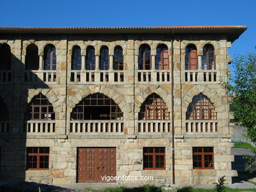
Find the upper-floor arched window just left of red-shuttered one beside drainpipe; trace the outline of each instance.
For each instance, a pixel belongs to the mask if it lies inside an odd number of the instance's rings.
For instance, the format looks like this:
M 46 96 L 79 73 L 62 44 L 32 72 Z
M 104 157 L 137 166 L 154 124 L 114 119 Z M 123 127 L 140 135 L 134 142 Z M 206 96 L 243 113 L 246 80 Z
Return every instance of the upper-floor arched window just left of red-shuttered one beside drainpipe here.
M 151 51 L 149 45 L 141 45 L 138 58 L 139 69 L 151 69 Z

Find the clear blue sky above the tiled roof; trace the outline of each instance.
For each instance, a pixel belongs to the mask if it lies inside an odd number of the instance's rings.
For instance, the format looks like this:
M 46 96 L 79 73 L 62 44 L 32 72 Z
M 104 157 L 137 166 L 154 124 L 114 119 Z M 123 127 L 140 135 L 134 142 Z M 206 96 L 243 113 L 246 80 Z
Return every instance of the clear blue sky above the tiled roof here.
M 0 7 L 0 26 L 245 25 L 229 54 L 256 46 L 256 0 L 1 0 Z

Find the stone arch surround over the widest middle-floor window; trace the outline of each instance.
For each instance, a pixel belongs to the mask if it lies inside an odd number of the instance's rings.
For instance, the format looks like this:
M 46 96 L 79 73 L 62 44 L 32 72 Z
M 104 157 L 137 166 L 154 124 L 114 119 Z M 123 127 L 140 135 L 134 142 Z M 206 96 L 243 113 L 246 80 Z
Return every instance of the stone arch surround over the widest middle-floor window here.
M 108 96 L 108 98 L 114 100 L 114 102 L 120 107 L 122 112 L 127 111 L 127 105 L 125 99 L 123 98 L 123 95 L 117 92 L 117 90 L 114 90 L 114 88 L 110 89 L 104 85 L 90 85 L 85 89 L 79 89 L 77 91 L 77 94 L 72 96 L 67 101 L 68 111 L 71 112 L 75 105 L 81 102 L 83 98 L 89 96 L 89 94 L 95 94 L 97 92 L 104 94 L 105 96 Z

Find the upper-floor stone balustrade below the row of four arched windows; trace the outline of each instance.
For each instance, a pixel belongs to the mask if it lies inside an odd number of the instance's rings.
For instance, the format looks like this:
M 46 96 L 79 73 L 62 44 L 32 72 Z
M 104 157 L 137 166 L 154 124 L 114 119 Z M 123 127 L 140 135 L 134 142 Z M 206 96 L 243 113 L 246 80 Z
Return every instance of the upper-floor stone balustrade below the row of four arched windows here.
M 123 71 L 77 71 L 72 70 L 70 74 L 70 82 L 104 82 L 104 83 L 121 83 L 124 81 Z

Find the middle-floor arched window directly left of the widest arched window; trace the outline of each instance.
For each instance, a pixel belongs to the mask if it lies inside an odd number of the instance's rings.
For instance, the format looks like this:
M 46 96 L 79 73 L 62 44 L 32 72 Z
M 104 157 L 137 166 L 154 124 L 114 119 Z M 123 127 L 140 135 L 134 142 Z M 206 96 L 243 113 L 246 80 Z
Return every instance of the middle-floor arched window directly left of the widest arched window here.
M 49 102 L 49 100 L 41 93 L 34 96 L 31 102 L 28 104 L 25 120 L 53 119 L 55 119 L 55 113 L 53 111 L 53 105 Z

